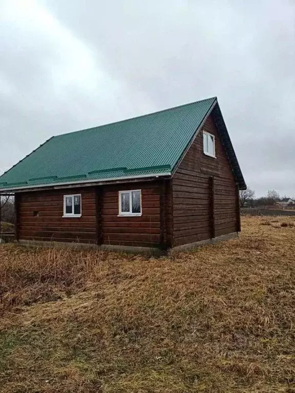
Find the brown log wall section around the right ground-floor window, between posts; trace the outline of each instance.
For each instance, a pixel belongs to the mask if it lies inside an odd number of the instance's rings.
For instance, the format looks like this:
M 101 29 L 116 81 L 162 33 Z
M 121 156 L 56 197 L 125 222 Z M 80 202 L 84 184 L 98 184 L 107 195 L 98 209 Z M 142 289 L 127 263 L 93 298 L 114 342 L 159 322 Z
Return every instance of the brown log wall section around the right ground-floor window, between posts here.
M 162 181 L 104 185 L 102 187 L 102 243 L 155 247 L 161 243 L 160 194 Z M 118 194 L 141 190 L 141 217 L 118 217 Z

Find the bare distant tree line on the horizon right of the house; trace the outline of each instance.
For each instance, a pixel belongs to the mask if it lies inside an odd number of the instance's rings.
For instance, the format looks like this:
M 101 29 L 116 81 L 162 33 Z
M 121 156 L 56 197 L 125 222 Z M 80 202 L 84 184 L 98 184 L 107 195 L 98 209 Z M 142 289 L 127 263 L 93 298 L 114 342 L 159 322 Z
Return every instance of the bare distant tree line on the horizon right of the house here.
M 245 207 L 259 207 L 259 206 L 271 206 L 275 205 L 276 202 L 281 199 L 288 198 L 287 196 L 280 196 L 276 190 L 268 190 L 267 194 L 260 198 L 255 198 L 255 191 L 251 189 L 240 191 L 240 206 Z M 295 198 L 291 198 L 295 200 Z

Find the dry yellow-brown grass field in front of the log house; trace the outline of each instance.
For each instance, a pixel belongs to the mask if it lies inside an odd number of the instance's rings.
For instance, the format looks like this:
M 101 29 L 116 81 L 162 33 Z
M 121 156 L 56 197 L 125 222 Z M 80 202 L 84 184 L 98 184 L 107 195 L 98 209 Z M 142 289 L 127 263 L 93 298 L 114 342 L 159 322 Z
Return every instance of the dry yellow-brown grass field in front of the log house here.
M 0 245 L 0 392 L 295 392 L 294 225 L 160 259 Z

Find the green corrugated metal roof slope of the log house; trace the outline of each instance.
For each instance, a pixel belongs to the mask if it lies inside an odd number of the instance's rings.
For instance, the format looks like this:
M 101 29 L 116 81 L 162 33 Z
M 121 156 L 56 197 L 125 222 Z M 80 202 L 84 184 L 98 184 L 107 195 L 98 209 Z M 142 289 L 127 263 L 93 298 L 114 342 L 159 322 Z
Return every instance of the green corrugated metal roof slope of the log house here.
M 0 177 L 0 190 L 171 173 L 216 97 L 54 136 Z

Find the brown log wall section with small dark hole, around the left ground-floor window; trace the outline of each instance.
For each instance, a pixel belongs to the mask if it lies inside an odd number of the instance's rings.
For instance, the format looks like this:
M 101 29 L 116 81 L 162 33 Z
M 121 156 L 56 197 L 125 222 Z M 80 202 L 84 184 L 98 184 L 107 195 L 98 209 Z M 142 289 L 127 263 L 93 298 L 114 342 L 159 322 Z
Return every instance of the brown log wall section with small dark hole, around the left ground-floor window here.
M 63 218 L 64 195 L 72 194 L 81 194 L 82 216 Z M 95 188 L 18 193 L 16 199 L 19 239 L 96 243 Z

